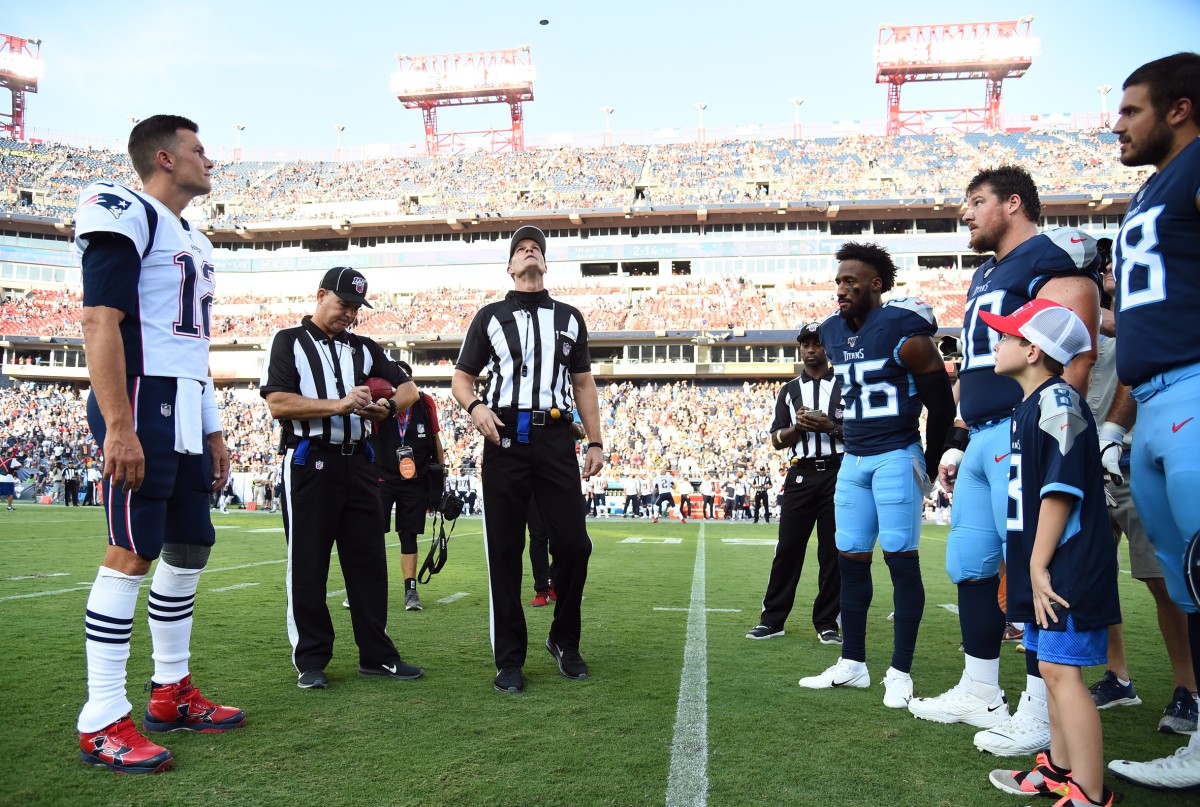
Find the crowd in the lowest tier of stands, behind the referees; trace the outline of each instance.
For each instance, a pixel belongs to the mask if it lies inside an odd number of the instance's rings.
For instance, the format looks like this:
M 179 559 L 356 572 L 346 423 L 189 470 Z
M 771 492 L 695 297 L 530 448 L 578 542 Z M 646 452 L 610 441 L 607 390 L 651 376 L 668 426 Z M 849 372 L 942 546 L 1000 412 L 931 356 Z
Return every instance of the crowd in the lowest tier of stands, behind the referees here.
M 422 387 L 438 405 L 446 466 L 475 468 L 482 453 L 479 432 L 448 388 Z M 769 448 L 774 384 L 697 385 L 689 382 L 620 382 L 599 388 L 610 480 L 630 474 L 678 472 L 726 478 L 758 466 L 778 476 L 780 455 Z M 88 391 L 67 384 L 22 383 L 0 388 L 0 455 L 17 455 L 18 474 L 36 485 L 54 465 L 82 472 L 102 467 L 101 447 L 86 422 Z M 217 390 L 221 420 L 235 474 L 269 474 L 278 464 L 278 426 L 251 387 Z M 41 489 L 38 489 L 41 492 Z M 47 491 L 48 492 L 48 491 Z

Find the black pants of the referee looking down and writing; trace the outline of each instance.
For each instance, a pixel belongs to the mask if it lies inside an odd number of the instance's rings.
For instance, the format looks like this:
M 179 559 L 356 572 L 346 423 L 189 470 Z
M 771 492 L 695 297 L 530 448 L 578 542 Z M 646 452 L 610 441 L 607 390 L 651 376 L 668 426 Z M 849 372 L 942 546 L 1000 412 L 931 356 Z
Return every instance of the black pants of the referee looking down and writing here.
M 306 672 L 325 669 L 334 657 L 326 588 L 336 543 L 359 664 L 392 664 L 400 653 L 385 629 L 388 556 L 376 467 L 362 450 L 343 456 L 313 446 L 304 465 L 295 465 L 294 454 L 289 448 L 283 455 L 292 660 Z

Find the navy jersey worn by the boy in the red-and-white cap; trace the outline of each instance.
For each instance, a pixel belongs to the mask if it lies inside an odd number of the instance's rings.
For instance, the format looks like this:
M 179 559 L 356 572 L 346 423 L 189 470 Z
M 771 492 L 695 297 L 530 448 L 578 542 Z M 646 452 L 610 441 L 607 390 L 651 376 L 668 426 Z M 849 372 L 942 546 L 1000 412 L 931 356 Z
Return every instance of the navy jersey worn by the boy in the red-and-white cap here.
M 1070 609 L 1060 611 L 1058 623 L 1049 629 L 1063 629 L 1067 612 L 1080 630 L 1118 623 L 1117 561 L 1096 420 L 1087 402 L 1062 378 L 1048 379 L 1013 412 L 1008 476 L 1008 618 L 1033 621 L 1030 557 L 1038 513 L 1043 496 L 1062 492 L 1074 503 L 1050 561 L 1050 586 Z

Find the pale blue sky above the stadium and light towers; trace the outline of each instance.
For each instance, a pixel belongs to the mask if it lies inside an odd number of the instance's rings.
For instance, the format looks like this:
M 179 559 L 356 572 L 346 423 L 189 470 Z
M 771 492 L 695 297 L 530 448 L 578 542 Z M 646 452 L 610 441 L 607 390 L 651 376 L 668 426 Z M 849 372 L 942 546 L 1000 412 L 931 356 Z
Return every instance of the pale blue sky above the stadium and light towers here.
M 907 11 L 905 11 L 907 8 Z M 52 10 L 52 11 L 48 11 Z M 347 4 L 196 2 L 14 4 L 2 32 L 43 41 L 41 89 L 29 96 L 36 134 L 68 132 L 113 142 L 128 118 L 158 112 L 200 124 L 210 150 L 233 145 L 332 149 L 422 139 L 421 115 L 389 92 L 396 54 L 532 47 L 532 141 L 601 132 L 616 108 L 618 137 L 664 127 L 694 130 L 708 103 L 712 132 L 790 126 L 790 98 L 805 121 L 882 120 L 886 88 L 874 83 L 881 23 L 960 23 L 1032 14 L 1042 55 L 1004 85 L 1004 114 L 1092 112 L 1111 84 L 1109 108 L 1138 65 L 1200 47 L 1200 2 L 1116 4 L 943 0 L 896 4 L 558 2 Z M 539 25 L 546 18 L 548 25 Z M 7 104 L 6 94 L 0 103 Z M 904 106 L 977 106 L 983 84 L 910 85 Z M 506 126 L 503 106 L 450 109 L 443 128 Z

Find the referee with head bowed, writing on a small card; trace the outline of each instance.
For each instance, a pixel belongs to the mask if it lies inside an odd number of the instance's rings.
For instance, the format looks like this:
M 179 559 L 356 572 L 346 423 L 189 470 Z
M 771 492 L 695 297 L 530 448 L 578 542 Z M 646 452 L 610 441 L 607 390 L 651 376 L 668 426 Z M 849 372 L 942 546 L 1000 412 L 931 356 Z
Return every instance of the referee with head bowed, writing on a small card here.
M 419 679 L 385 630 L 388 558 L 368 422 L 395 417 L 418 400 L 416 385 L 372 340 L 349 333 L 367 281 L 348 267 L 325 273 L 317 310 L 271 342 L 259 393 L 282 428 L 283 528 L 288 542 L 288 639 L 301 689 L 329 686 L 334 623 L 325 604 L 329 558 L 337 560 L 350 602 L 359 672 Z M 371 400 L 366 379 L 386 378 L 391 400 Z

